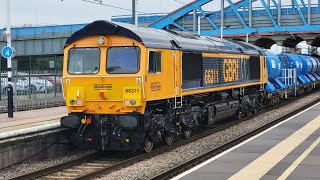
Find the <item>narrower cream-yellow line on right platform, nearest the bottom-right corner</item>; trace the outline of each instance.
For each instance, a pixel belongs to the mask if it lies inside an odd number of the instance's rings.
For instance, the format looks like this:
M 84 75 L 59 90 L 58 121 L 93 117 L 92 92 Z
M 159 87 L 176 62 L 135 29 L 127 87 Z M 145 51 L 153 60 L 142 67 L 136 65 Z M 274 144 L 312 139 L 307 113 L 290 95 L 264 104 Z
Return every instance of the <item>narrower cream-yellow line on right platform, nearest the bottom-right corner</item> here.
M 278 180 L 286 179 L 299 166 L 303 159 L 306 158 L 315 147 L 317 147 L 319 143 L 320 137 L 291 164 L 291 166 L 278 178 Z

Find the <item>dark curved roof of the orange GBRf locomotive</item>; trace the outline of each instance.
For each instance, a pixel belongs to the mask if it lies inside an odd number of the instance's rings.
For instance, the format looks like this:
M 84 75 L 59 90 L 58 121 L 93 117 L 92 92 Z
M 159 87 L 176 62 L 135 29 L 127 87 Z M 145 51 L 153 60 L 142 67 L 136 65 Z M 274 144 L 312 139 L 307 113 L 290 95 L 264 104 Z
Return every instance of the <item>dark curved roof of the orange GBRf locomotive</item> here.
M 249 43 L 234 42 L 186 32 L 136 27 L 131 24 L 94 21 L 67 39 L 66 45 L 92 35 L 120 35 L 142 43 L 146 48 L 173 49 L 189 52 L 218 52 L 261 55 L 263 51 Z

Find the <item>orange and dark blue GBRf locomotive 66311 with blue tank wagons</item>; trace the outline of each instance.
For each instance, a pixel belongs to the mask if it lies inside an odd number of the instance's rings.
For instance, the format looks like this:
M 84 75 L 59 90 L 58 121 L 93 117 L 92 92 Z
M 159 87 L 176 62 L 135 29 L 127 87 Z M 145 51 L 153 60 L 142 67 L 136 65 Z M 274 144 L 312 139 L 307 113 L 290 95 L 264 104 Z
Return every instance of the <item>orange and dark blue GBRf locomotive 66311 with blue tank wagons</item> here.
M 72 143 L 152 151 L 317 88 L 319 61 L 187 32 L 94 21 L 64 48 L 62 87 Z

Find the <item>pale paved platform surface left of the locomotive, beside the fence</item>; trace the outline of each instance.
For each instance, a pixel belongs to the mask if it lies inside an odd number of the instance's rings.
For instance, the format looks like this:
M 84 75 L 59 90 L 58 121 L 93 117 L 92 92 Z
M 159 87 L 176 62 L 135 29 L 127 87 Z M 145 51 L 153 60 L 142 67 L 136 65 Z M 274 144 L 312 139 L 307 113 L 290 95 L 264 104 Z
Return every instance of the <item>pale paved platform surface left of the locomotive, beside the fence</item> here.
M 0 133 L 57 123 L 60 122 L 60 117 L 66 115 L 68 112 L 65 106 L 14 112 L 13 118 L 8 118 L 7 113 L 2 113 Z

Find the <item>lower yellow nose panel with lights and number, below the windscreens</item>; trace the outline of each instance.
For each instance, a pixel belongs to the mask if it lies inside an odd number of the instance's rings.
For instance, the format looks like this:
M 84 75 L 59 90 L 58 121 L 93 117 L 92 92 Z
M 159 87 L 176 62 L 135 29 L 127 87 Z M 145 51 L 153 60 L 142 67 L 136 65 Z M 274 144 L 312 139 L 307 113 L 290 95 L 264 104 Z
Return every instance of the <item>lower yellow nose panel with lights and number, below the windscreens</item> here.
M 65 77 L 70 113 L 144 113 L 142 77 Z

